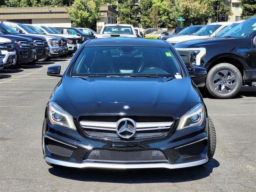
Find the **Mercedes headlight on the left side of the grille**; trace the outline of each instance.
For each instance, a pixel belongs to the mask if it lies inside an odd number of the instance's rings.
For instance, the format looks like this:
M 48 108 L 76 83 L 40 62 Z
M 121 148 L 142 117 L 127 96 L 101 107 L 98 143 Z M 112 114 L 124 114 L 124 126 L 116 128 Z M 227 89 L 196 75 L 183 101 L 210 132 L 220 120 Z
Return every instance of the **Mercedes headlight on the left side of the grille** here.
M 53 125 L 57 124 L 76 130 L 73 116 L 52 101 L 49 103 L 48 118 Z

